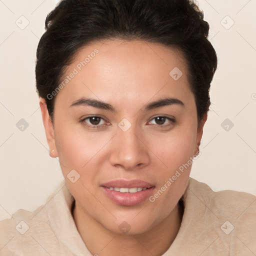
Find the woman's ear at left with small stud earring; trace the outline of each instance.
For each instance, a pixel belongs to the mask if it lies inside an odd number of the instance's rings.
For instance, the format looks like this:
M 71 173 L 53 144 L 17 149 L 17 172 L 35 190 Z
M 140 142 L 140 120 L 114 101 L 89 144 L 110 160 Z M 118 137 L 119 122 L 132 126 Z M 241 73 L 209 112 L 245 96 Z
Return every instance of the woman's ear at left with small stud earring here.
M 49 116 L 49 112 L 48 112 L 47 105 L 45 103 L 44 98 L 41 98 L 41 97 L 39 98 L 39 105 L 41 108 L 43 126 L 45 130 L 47 142 L 49 145 L 49 155 L 51 157 L 57 157 L 58 154 L 57 154 L 57 149 L 55 145 L 54 128 L 53 128 L 53 124 Z

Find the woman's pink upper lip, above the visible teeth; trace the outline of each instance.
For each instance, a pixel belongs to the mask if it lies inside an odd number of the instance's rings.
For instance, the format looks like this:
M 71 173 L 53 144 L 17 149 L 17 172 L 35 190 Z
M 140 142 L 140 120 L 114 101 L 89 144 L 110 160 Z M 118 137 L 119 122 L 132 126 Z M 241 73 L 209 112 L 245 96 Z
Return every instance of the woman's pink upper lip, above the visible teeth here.
M 127 188 L 132 188 L 132 187 L 152 187 L 154 186 L 153 184 L 150 184 L 146 181 L 140 180 L 140 179 L 131 179 L 131 180 L 125 180 L 125 179 L 115 179 L 111 180 L 105 183 L 102 183 L 101 186 L 105 187 L 127 187 Z

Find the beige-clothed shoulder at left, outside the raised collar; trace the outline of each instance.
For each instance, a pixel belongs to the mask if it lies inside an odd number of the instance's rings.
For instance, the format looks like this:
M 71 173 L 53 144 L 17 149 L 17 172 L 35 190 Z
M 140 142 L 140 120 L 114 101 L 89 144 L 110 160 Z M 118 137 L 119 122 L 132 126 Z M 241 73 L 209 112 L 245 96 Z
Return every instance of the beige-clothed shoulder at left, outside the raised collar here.
M 55 249 L 61 247 L 50 225 L 47 202 L 34 211 L 19 209 L 11 218 L 0 221 L 0 255 L 34 255 L 36 252 L 41 256 L 50 253 L 45 248 L 55 253 Z M 61 249 L 65 251 L 65 248 Z

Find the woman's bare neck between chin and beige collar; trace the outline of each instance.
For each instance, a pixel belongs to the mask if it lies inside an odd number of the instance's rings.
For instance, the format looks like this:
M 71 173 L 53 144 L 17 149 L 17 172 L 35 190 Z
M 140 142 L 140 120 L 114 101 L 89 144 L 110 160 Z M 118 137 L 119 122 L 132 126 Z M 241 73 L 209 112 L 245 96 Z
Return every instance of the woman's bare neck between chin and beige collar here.
M 104 228 L 77 202 L 72 214 L 77 230 L 92 255 L 151 256 L 162 255 L 172 244 L 181 224 L 183 204 L 178 203 L 165 219 L 140 234 L 118 234 Z

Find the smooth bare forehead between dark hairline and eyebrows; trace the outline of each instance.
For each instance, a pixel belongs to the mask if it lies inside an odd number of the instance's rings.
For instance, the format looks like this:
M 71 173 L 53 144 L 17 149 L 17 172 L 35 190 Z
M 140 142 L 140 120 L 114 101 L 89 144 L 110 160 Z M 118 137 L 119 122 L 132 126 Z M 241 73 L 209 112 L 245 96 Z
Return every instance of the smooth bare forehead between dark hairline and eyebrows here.
M 159 93 L 175 97 L 191 93 L 181 51 L 142 40 L 95 41 L 80 48 L 60 82 L 64 80 L 67 83 L 58 94 L 68 101 L 84 95 L 102 100 L 118 96 L 124 102 L 135 97 L 149 100 Z

